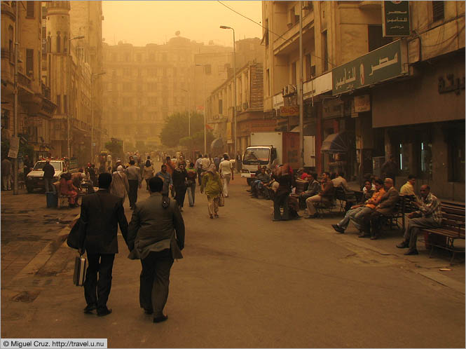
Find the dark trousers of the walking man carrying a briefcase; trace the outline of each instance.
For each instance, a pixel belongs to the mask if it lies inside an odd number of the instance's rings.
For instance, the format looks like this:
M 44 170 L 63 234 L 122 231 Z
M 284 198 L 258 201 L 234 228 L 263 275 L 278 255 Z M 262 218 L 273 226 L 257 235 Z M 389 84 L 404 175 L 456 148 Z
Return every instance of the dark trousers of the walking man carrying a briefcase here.
M 97 310 L 107 307 L 111 289 L 111 271 L 115 254 L 89 254 L 85 273 L 84 297 L 88 304 L 96 304 Z M 100 261 L 99 261 L 100 260 Z M 97 280 L 97 273 L 99 278 Z

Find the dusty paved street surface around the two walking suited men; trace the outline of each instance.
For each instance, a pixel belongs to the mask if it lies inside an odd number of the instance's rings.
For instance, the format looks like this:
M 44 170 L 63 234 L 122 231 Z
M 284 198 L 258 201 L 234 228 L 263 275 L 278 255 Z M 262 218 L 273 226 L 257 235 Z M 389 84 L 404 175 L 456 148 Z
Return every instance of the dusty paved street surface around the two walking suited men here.
M 139 200 L 148 196 L 139 190 Z M 1 337 L 108 338 L 109 348 L 464 348 L 465 264 L 395 245 L 401 231 L 358 239 L 326 219 L 272 221 L 272 202 L 235 177 L 219 219 L 205 195 L 183 212 L 165 312 L 139 308 L 139 261 L 119 238 L 107 317 L 83 314 L 64 238 L 78 209 L 46 209 L 41 193 L 1 195 Z M 128 221 L 131 211 L 125 203 Z M 14 219 L 11 214 L 16 214 Z M 300 212 L 304 215 L 303 212 Z M 449 268 L 451 271 L 439 271 Z

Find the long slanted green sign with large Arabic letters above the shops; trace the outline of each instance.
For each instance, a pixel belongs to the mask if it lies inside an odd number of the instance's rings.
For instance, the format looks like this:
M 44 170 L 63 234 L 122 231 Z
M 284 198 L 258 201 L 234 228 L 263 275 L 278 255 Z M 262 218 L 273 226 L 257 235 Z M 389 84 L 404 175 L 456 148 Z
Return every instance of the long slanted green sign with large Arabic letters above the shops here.
M 407 74 L 406 42 L 397 40 L 331 71 L 332 95 Z

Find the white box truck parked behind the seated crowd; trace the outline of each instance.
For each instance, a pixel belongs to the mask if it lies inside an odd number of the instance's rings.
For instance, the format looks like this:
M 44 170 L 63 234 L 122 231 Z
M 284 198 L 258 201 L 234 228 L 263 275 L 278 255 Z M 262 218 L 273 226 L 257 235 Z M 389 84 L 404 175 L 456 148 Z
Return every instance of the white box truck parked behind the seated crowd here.
M 298 132 L 252 132 L 249 137 L 251 146 L 242 157 L 241 170 L 247 184 L 254 179 L 258 166 L 273 168 L 289 163 L 292 168 L 299 167 Z

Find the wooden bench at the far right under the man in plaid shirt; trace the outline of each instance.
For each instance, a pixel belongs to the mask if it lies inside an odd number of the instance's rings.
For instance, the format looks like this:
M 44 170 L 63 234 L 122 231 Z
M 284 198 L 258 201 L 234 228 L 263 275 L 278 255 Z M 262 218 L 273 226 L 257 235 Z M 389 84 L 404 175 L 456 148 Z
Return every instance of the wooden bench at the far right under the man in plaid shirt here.
M 441 203 L 441 226 L 439 228 L 421 228 L 420 233 L 425 233 L 425 238 L 420 241 L 425 241 L 426 245 L 430 245 L 429 257 L 432 256 L 434 247 L 447 249 L 452 252 L 450 264 L 455 259 L 455 253 L 465 252 L 464 247 L 458 248 L 454 246 L 456 239 L 465 240 L 465 204 L 462 203 Z M 430 239 L 431 235 L 443 236 L 445 243 L 439 243 Z

